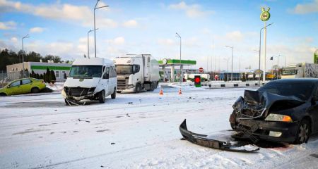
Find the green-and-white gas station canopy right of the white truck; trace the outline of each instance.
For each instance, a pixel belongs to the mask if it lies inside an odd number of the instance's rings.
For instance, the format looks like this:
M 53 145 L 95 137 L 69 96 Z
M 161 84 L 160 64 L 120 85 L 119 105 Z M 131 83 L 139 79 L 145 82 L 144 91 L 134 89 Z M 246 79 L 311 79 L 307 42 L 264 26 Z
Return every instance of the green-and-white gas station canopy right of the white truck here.
M 158 61 L 160 70 L 160 78 L 165 82 L 170 80 L 170 82 L 179 82 L 179 73 L 181 70 L 181 77 L 184 77 L 184 73 L 189 73 L 191 70 L 184 69 L 184 65 L 196 65 L 196 61 L 190 60 L 179 60 L 179 59 L 169 59 L 165 58 L 162 61 Z M 179 67 L 177 69 L 176 67 Z M 170 68 L 170 71 L 169 69 Z

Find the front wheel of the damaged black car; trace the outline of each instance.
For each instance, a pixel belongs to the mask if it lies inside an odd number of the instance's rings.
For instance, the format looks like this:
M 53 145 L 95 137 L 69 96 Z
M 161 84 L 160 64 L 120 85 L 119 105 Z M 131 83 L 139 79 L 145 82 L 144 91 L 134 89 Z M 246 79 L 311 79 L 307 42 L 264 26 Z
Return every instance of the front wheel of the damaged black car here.
M 307 143 L 310 137 L 310 121 L 307 119 L 303 119 L 296 132 L 295 144 Z

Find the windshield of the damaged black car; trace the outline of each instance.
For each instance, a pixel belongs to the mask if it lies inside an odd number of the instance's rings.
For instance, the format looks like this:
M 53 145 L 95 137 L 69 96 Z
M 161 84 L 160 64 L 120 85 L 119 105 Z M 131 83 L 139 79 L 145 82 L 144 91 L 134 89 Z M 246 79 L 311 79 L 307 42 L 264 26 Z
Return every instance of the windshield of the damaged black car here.
M 269 82 L 259 89 L 259 93 L 269 92 L 281 96 L 296 96 L 307 101 L 314 90 L 314 82 Z

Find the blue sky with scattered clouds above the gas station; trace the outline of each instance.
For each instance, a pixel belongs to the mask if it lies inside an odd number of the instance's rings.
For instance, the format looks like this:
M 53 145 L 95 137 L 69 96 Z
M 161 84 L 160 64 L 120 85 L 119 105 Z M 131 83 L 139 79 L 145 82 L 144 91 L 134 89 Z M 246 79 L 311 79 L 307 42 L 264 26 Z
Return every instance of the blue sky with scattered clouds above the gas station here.
M 87 32 L 93 29 L 93 0 L 9 1 L 0 0 L 0 49 L 54 54 L 63 60 L 87 55 Z M 269 6 L 273 23 L 267 30 L 267 69 L 271 56 L 286 57 L 286 65 L 313 62 L 318 49 L 318 0 L 308 1 L 118 1 L 101 0 L 96 11 L 97 56 L 152 54 L 155 58 L 196 60 L 192 68 L 227 68 L 234 46 L 233 68 L 258 68 L 259 19 L 262 6 Z M 263 44 L 262 35 L 262 45 Z M 93 32 L 90 56 L 94 55 Z M 264 51 L 264 49 L 262 49 Z M 262 52 L 262 56 L 263 56 Z M 208 60 L 208 62 L 207 62 Z M 213 61 L 211 63 L 211 61 Z M 216 64 L 214 63 L 216 61 Z M 275 62 L 277 62 L 275 58 Z M 283 65 L 284 57 L 279 60 Z M 220 63 L 220 64 L 219 64 Z M 263 64 L 263 63 L 261 63 Z M 230 68 L 230 60 L 229 60 Z

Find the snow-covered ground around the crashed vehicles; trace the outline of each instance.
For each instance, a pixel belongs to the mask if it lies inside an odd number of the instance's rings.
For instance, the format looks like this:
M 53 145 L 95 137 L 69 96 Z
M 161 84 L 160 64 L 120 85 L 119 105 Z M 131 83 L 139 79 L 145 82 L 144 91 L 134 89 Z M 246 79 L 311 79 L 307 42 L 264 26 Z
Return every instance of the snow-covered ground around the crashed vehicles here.
M 316 168 L 318 138 L 243 154 L 180 140 L 230 129 L 244 89 L 163 84 L 154 92 L 117 94 L 105 104 L 65 106 L 60 94 L 0 97 L 0 168 Z

